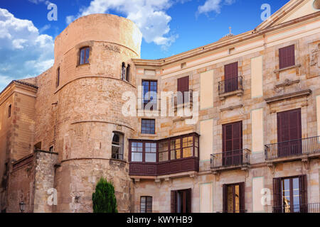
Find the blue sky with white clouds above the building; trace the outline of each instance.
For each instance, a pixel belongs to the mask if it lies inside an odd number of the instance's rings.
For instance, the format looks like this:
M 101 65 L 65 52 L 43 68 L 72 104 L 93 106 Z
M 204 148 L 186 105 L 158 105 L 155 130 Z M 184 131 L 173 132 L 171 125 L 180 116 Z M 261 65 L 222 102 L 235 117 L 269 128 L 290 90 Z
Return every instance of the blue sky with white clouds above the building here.
M 143 34 L 142 58 L 159 59 L 237 35 L 262 23 L 262 4 L 274 13 L 289 0 L 1 0 L 0 91 L 12 79 L 53 65 L 53 43 L 68 23 L 90 13 L 132 19 Z M 58 21 L 48 21 L 53 3 Z

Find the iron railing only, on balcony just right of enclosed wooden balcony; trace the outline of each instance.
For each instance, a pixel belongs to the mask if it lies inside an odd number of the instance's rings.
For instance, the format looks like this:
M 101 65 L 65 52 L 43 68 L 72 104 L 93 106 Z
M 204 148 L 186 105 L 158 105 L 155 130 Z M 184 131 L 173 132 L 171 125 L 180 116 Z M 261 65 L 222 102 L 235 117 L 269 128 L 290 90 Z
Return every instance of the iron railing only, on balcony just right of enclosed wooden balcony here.
M 229 167 L 233 165 L 249 165 L 250 153 L 248 149 L 231 150 L 211 155 L 211 168 Z

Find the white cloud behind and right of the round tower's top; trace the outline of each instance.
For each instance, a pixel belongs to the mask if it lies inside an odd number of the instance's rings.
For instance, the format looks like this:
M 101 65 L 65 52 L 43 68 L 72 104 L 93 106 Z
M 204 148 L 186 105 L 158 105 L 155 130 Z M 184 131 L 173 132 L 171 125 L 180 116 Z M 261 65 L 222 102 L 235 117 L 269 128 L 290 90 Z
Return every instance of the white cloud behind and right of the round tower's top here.
M 171 16 L 166 13 L 166 10 L 173 4 L 186 1 L 189 0 L 92 0 L 90 6 L 80 9 L 77 16 L 68 16 L 66 22 L 71 23 L 80 16 L 93 13 L 117 11 L 137 24 L 146 43 L 154 42 L 156 45 L 161 45 L 163 49 L 167 49 L 178 35 L 170 33 Z

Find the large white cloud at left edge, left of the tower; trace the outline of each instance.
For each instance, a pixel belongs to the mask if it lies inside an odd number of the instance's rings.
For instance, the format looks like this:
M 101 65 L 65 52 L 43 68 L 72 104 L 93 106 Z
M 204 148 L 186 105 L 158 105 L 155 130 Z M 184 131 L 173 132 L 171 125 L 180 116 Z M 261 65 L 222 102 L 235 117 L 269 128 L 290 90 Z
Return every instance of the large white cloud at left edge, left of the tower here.
M 32 21 L 0 9 L 0 92 L 13 79 L 41 74 L 53 65 L 53 38 Z

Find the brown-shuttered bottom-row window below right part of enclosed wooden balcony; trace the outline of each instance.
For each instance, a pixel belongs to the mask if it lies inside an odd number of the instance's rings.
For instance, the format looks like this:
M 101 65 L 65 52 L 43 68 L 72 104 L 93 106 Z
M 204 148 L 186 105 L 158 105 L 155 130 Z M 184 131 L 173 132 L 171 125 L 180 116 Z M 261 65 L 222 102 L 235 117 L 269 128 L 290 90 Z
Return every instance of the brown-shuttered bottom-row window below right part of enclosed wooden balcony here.
M 191 213 L 191 189 L 171 191 L 171 213 Z

